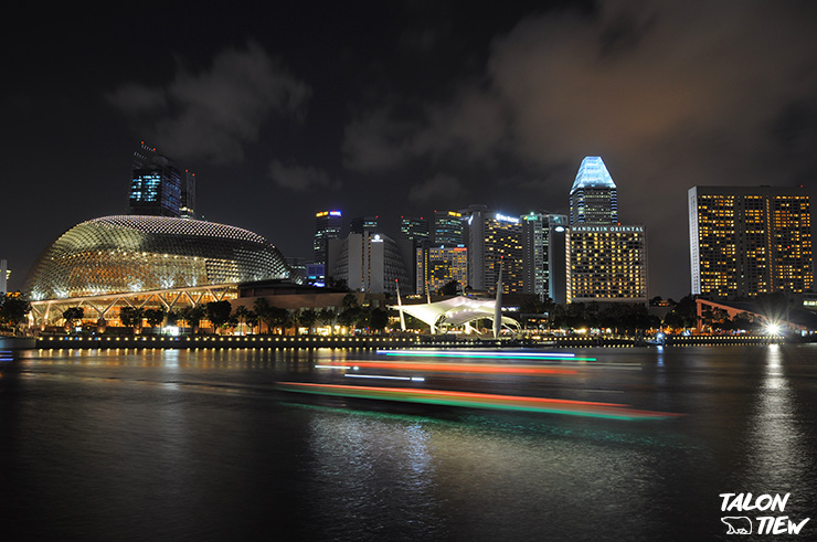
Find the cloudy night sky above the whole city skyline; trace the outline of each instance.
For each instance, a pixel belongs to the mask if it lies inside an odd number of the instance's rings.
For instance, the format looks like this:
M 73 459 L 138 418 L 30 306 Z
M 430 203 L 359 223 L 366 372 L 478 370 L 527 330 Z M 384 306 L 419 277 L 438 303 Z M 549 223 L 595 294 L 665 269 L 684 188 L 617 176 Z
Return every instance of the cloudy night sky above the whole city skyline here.
M 566 213 L 582 158 L 601 156 L 620 222 L 647 227 L 650 297 L 675 299 L 689 188 L 814 189 L 817 2 L 477 4 L 7 11 L 10 289 L 64 231 L 125 211 L 141 140 L 197 173 L 205 220 L 298 257 L 327 209 L 393 235 L 401 215 L 474 203 Z

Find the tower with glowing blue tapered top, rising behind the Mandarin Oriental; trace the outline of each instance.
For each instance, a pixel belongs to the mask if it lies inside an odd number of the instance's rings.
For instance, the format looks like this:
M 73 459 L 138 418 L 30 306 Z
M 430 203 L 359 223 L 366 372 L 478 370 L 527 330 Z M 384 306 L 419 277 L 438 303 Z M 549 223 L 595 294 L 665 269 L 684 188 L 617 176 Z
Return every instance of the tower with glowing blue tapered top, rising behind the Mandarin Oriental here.
M 617 223 L 616 183 L 601 157 L 585 157 L 570 189 L 570 225 Z

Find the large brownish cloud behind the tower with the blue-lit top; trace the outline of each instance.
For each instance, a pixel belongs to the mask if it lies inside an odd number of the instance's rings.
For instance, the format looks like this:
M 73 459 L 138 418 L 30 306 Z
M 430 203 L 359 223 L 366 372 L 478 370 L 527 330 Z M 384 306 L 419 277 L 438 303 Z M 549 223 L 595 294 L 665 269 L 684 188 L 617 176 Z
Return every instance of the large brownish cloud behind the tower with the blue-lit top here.
M 407 189 L 422 201 L 461 188 L 456 179 L 475 163 L 484 170 L 468 178 L 471 193 L 512 190 L 498 168 L 510 156 L 528 164 L 527 180 L 513 177 L 527 212 L 537 187 L 540 208 L 562 206 L 581 159 L 601 155 L 619 187 L 619 216 L 651 232 L 654 286 L 683 291 L 690 187 L 803 177 L 781 148 L 814 142 L 817 33 L 813 18 L 798 18 L 803 7 L 617 1 L 591 15 L 523 18 L 495 39 L 482 77 L 423 115 L 357 118 L 346 132 L 348 163 L 383 172 L 457 157 L 446 160 L 448 173 Z

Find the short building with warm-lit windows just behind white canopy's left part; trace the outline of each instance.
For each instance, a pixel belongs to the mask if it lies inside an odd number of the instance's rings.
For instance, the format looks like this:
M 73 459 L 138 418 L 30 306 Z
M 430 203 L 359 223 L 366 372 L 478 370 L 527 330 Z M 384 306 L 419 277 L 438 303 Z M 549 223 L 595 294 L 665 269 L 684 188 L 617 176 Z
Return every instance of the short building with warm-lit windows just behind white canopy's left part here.
M 415 294 L 433 294 L 452 280 L 465 288 L 468 285 L 468 249 L 424 243 L 415 251 Z

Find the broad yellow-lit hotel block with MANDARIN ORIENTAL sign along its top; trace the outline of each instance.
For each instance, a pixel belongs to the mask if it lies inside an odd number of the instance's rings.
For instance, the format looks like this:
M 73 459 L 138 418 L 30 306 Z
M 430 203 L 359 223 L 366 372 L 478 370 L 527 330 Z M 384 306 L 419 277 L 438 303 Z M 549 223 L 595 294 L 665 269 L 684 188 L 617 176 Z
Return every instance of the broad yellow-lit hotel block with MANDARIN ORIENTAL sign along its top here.
M 644 226 L 572 226 L 567 246 L 567 302 L 647 302 Z

